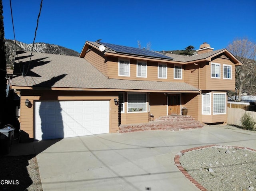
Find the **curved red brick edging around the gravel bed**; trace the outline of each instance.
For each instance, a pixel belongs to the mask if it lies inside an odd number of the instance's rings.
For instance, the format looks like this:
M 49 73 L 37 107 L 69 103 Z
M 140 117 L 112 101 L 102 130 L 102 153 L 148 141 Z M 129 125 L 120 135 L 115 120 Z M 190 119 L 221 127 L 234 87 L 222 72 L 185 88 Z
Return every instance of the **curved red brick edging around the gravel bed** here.
M 253 152 L 256 152 L 256 150 L 247 148 L 247 147 L 238 147 L 238 146 L 228 146 L 228 145 L 206 145 L 206 146 L 200 146 L 200 147 L 194 147 L 186 150 L 182 150 L 178 152 L 175 157 L 174 157 L 174 163 L 178 167 L 178 169 L 182 172 L 182 174 L 190 181 L 192 182 L 200 191 L 207 191 L 205 187 L 203 187 L 198 181 L 196 181 L 190 174 L 182 167 L 180 164 L 180 156 L 182 156 L 186 152 L 194 151 L 194 150 L 200 150 L 204 148 L 237 148 L 237 149 L 245 149 L 245 150 L 250 150 Z

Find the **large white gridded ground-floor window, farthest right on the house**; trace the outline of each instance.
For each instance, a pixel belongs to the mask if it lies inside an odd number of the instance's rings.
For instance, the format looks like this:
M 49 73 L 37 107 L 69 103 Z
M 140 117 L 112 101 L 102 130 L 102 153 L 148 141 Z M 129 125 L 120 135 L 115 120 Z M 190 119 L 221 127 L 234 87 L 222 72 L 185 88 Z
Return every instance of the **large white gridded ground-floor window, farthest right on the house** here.
M 226 94 L 213 94 L 213 114 L 226 114 Z

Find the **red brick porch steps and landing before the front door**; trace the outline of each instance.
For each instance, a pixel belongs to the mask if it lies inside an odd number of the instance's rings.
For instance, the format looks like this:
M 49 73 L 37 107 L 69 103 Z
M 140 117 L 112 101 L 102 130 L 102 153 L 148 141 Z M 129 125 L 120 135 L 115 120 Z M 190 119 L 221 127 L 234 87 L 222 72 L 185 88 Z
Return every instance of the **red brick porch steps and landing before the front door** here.
M 148 130 L 179 131 L 202 127 L 203 125 L 200 122 L 189 115 L 169 115 L 161 116 L 148 123 L 120 125 L 119 132 L 128 133 Z

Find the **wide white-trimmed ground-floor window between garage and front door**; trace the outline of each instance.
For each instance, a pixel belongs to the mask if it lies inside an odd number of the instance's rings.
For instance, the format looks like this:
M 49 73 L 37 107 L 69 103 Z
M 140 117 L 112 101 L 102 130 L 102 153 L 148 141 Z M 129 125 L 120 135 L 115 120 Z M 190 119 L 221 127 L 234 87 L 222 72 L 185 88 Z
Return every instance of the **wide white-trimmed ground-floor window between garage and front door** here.
M 127 93 L 127 112 L 146 112 L 146 93 Z

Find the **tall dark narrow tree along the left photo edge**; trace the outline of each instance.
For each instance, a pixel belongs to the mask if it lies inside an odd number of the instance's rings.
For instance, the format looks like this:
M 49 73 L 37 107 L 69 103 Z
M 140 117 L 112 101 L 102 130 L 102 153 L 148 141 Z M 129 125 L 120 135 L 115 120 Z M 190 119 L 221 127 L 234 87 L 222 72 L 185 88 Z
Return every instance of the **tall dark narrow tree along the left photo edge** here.
M 0 125 L 3 125 L 4 111 L 6 108 L 6 59 L 4 43 L 4 17 L 3 5 L 0 0 Z

